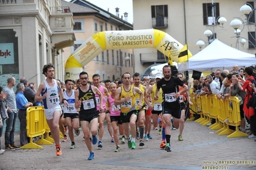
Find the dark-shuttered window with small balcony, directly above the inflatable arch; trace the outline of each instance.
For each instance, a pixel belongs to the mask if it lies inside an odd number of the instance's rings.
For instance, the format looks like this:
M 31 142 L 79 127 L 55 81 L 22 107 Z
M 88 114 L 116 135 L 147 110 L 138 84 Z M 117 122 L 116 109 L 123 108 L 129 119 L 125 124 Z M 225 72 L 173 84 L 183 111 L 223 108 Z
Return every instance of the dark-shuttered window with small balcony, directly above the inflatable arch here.
M 167 27 L 167 4 L 151 6 L 151 17 L 153 27 Z

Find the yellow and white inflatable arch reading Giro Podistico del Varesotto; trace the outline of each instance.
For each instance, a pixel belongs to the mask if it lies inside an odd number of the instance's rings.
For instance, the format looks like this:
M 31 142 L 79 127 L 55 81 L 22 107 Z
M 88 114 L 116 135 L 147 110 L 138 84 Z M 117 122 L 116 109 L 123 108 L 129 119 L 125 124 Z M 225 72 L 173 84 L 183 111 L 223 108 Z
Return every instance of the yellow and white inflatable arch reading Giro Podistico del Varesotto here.
M 169 63 L 178 62 L 183 45 L 175 38 L 157 29 L 133 31 L 102 31 L 96 33 L 76 49 L 65 64 L 65 79 L 77 79 L 87 65 L 103 50 L 156 48 Z

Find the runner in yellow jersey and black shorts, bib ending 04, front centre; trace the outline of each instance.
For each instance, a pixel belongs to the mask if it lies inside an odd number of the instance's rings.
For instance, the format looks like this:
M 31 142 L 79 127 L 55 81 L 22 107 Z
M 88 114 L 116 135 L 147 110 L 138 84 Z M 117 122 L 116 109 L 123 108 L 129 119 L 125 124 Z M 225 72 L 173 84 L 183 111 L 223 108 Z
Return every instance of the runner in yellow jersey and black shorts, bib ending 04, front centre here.
M 138 103 L 138 109 L 142 107 L 143 93 L 139 88 L 131 86 L 130 84 L 131 75 L 126 72 L 122 75 L 123 86 L 119 87 L 115 92 L 115 102 L 114 105 L 121 105 L 121 121 L 124 127 L 124 134 L 128 137 L 128 148 L 135 149 L 135 134 L 136 134 L 136 125 L 137 120 L 136 111 L 136 93 L 140 94 L 140 100 Z M 129 130 L 129 126 L 131 130 Z M 132 138 L 130 136 L 130 132 Z

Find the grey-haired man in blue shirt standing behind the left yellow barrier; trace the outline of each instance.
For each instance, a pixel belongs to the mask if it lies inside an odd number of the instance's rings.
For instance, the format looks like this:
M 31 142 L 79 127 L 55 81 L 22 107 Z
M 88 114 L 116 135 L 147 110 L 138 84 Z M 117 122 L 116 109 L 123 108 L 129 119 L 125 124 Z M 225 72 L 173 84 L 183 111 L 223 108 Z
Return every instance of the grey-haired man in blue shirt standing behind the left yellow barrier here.
M 25 86 L 22 82 L 17 84 L 17 91 L 16 91 L 16 104 L 17 108 L 19 109 L 19 121 L 20 121 L 20 143 L 21 146 L 28 143 L 28 137 L 27 137 L 27 119 L 26 119 L 26 113 L 27 108 L 30 106 L 33 106 L 32 102 L 28 102 L 26 97 L 24 96 Z

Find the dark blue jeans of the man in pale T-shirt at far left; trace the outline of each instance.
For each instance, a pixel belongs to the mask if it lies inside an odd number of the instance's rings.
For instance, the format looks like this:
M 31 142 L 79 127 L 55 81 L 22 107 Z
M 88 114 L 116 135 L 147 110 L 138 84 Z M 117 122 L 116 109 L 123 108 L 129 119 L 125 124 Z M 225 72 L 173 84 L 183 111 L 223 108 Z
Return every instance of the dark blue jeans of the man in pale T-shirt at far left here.
M 5 128 L 5 146 L 14 144 L 14 131 L 15 131 L 15 122 L 17 118 L 17 112 L 8 112 L 9 118 L 6 120 L 6 128 Z

